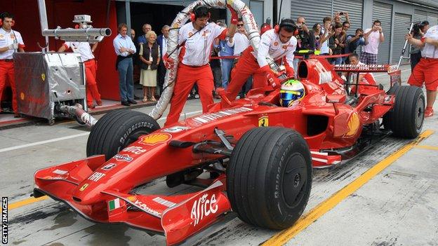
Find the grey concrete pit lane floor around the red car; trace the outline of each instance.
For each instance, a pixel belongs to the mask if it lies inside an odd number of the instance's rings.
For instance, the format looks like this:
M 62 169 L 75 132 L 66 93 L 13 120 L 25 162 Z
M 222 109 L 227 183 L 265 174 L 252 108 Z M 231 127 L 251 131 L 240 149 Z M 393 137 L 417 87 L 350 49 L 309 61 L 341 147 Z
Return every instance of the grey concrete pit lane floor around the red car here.
M 403 81 L 409 76 L 404 67 Z M 378 81 L 387 76 L 377 74 Z M 379 76 L 383 75 L 383 76 Z M 386 86 L 386 84 L 385 84 Z M 152 108 L 135 109 L 149 112 Z M 200 113 L 199 100 L 187 101 L 187 117 Z M 438 111 L 438 107 L 435 107 Z M 365 180 L 333 209 L 316 214 L 310 226 L 284 232 L 249 226 L 234 213 L 187 240 L 184 245 L 438 245 L 438 124 L 427 118 L 423 130 L 436 133 L 412 146 L 379 174 Z M 163 120 L 159 121 L 162 125 Z M 33 173 L 39 168 L 84 158 L 88 130 L 77 123 L 32 125 L 0 131 L 0 195 L 8 196 L 9 245 L 165 245 L 161 235 L 148 235 L 124 225 L 94 224 L 50 198 L 29 199 Z M 410 141 L 388 137 L 356 160 L 333 170 L 314 172 L 312 193 L 304 214 L 361 177 Z M 6 149 L 14 147 L 14 149 Z M 362 178 L 363 179 L 363 178 Z M 161 180 L 144 192 L 167 189 Z M 25 205 L 22 201 L 28 201 Z M 333 201 L 332 201 L 333 203 Z M 291 238 L 291 231 L 296 235 Z M 298 233 L 297 233 L 298 232 Z M 275 238 L 272 236 L 276 235 Z M 271 240 L 270 240 L 271 238 Z

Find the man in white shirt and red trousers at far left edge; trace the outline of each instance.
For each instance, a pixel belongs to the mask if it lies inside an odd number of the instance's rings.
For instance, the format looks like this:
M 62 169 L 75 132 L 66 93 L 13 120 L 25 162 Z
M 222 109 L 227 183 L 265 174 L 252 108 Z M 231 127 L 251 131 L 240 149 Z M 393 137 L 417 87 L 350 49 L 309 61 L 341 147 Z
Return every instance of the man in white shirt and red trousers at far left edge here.
M 13 53 L 25 52 L 25 43 L 22 41 L 20 32 L 12 29 L 13 25 L 13 15 L 7 12 L 0 14 L 0 100 L 6 85 L 6 78 L 8 78 L 12 88 L 12 109 L 14 117 L 18 118 L 20 114 L 18 114 L 17 93 L 15 91 Z

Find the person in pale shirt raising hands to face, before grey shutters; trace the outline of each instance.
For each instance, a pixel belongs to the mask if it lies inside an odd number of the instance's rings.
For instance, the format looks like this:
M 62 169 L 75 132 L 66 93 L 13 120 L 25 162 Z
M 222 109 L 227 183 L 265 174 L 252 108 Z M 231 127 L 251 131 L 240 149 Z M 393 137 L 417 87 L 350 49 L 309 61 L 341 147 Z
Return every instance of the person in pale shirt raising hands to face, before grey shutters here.
M 374 20 L 373 27 L 365 30 L 365 46 L 360 59 L 364 64 L 377 64 L 378 46 L 385 41 L 381 25 L 380 20 Z

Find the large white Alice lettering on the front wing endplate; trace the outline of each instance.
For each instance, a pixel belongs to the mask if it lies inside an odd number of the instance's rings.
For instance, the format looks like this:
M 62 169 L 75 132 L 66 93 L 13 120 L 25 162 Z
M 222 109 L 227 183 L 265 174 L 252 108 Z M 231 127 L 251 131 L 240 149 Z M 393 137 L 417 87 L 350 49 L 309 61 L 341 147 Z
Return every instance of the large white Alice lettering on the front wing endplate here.
M 210 214 L 215 214 L 218 212 L 218 204 L 216 204 L 215 194 L 211 195 L 208 199 L 208 193 L 202 195 L 199 200 L 195 200 L 192 206 L 192 212 L 190 213 L 190 219 L 192 219 L 193 226 L 197 226 L 199 221 L 204 219 Z

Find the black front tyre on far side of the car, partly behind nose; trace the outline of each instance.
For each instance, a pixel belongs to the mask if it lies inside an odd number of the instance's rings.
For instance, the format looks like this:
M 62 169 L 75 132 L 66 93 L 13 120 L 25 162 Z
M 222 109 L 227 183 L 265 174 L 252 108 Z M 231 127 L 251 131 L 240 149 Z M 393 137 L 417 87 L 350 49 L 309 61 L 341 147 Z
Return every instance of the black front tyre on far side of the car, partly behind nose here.
M 159 129 L 151 116 L 128 109 L 111 111 L 99 119 L 88 136 L 87 156 L 104 154 L 109 160 L 140 135 Z

